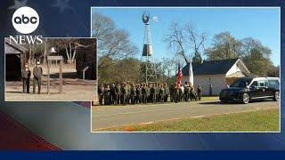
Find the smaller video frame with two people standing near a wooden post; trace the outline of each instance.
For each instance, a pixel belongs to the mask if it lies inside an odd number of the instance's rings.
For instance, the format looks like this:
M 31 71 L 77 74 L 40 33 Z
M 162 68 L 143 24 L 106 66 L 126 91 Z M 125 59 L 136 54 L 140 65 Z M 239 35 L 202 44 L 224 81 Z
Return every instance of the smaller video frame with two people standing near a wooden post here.
M 4 38 L 5 101 L 97 101 L 97 39 Z

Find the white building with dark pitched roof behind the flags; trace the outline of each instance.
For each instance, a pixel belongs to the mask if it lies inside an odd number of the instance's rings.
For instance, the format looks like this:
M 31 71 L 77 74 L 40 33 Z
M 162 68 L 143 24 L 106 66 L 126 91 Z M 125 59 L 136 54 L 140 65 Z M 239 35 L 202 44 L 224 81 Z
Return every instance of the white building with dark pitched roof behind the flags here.
M 189 79 L 189 65 L 190 63 L 182 70 L 183 84 Z M 194 86 L 197 88 L 200 84 L 203 95 L 210 95 L 210 92 L 212 92 L 212 95 L 218 95 L 226 87 L 226 84 L 232 84 L 237 78 L 249 76 L 250 74 L 248 68 L 240 59 L 192 62 L 192 69 Z M 210 87 L 211 85 L 212 87 Z

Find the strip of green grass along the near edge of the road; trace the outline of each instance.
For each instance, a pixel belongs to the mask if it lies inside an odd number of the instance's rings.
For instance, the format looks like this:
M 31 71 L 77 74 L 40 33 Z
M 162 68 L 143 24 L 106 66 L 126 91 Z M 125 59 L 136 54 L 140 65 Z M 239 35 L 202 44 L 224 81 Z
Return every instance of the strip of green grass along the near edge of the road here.
M 108 128 L 107 132 L 279 132 L 279 109 Z

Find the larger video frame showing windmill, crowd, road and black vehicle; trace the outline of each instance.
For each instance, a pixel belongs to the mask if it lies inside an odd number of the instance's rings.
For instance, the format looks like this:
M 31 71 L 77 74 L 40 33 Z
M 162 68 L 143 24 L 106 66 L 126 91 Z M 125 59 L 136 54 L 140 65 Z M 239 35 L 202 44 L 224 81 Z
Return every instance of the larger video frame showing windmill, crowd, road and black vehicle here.
M 280 7 L 93 7 L 91 132 L 280 132 Z

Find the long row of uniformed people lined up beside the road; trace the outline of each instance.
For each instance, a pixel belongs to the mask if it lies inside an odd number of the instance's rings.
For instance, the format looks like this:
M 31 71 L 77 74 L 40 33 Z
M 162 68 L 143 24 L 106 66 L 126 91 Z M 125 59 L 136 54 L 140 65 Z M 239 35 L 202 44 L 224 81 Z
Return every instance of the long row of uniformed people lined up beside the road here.
M 191 83 L 184 85 L 173 83 L 169 86 L 165 84 L 131 84 L 122 82 L 118 84 L 101 84 L 98 87 L 99 103 L 102 105 L 113 104 L 146 104 L 167 102 L 170 97 L 171 102 L 201 100 L 201 86 L 197 92 Z

